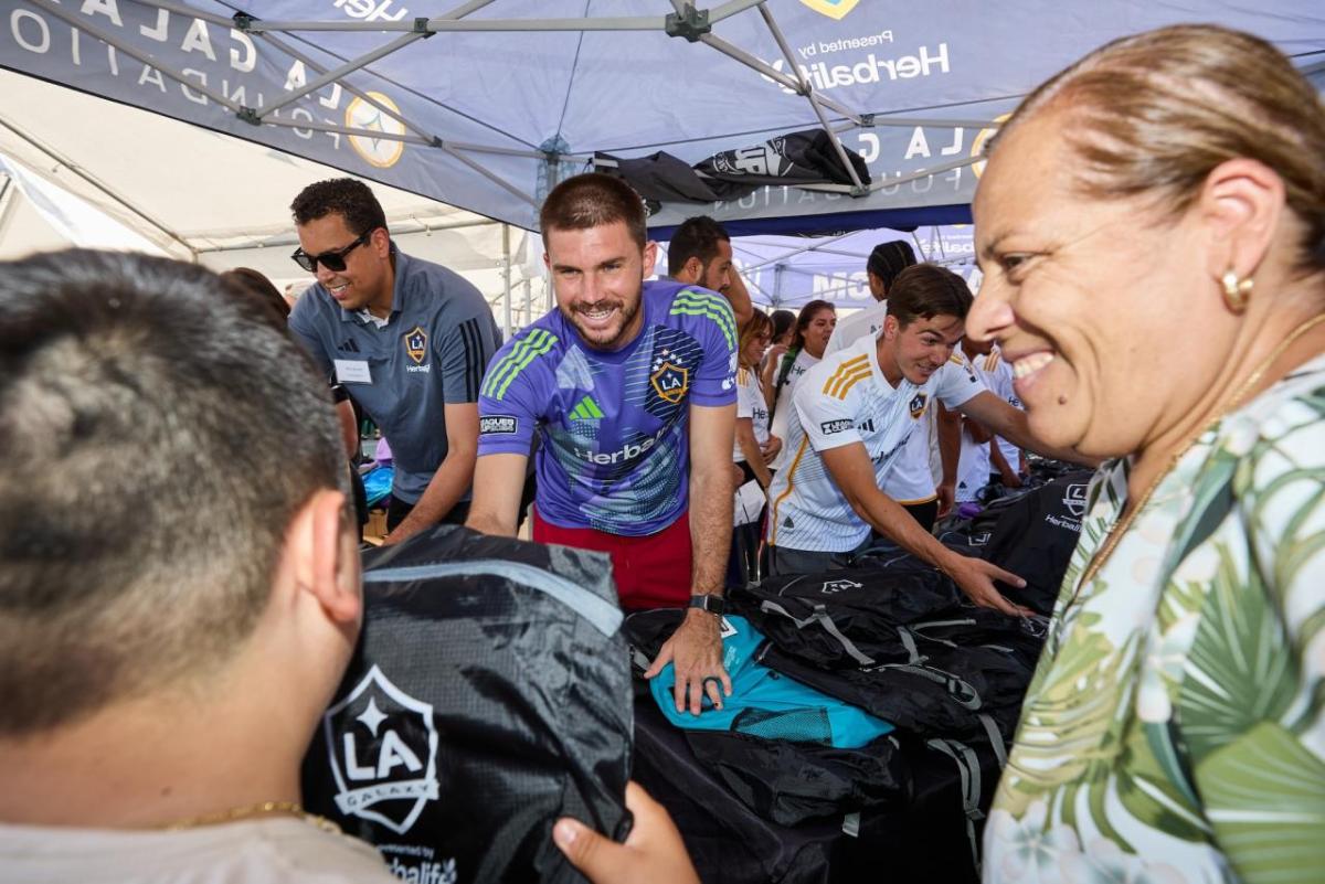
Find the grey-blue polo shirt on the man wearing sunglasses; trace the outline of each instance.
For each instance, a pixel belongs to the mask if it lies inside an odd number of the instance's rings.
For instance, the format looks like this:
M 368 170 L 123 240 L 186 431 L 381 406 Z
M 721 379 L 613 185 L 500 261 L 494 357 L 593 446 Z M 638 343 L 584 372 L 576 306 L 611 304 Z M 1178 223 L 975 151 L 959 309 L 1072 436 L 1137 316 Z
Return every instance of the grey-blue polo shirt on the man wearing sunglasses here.
M 398 251 L 386 326 L 342 308 L 314 283 L 295 302 L 290 331 L 382 427 L 395 457 L 391 492 L 417 503 L 447 457 L 443 408 L 478 401 L 497 351 L 488 302 L 460 274 Z

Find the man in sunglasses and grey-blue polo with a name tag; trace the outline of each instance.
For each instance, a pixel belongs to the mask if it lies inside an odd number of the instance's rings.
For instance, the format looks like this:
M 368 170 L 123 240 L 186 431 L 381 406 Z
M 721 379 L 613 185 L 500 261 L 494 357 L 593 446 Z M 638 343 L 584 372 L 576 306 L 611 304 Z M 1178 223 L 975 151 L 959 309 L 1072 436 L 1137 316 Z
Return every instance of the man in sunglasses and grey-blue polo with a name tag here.
M 478 447 L 478 384 L 497 349 L 474 286 L 396 250 L 372 191 L 354 179 L 306 187 L 290 205 L 317 275 L 290 331 L 382 429 L 395 457 L 387 540 L 469 511 Z

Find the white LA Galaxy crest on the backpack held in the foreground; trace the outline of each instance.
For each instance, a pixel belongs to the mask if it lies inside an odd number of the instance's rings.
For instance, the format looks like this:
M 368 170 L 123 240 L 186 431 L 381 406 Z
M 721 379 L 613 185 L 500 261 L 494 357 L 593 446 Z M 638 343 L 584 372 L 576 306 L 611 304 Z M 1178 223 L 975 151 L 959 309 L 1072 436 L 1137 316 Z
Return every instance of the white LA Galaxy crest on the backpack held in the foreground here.
M 374 666 L 322 716 L 341 813 L 404 835 L 437 801 L 437 729 L 432 705 Z

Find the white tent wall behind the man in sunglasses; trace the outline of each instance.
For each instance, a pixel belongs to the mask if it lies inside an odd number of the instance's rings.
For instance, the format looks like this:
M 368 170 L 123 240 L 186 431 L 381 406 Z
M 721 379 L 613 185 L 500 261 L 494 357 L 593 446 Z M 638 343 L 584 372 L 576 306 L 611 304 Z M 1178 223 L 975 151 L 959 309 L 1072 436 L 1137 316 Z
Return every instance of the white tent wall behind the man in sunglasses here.
M 290 202 L 306 184 L 346 173 L 261 144 L 0 70 L 0 155 L 29 180 L 131 230 L 119 247 L 150 243 L 160 254 L 213 270 L 253 267 L 278 287 L 311 282 L 290 259 L 298 247 Z M 465 275 L 506 319 L 504 224 L 370 181 L 401 250 Z M 81 242 L 42 217 L 15 187 L 0 214 L 0 257 Z M 510 327 L 529 322 L 525 283 L 538 315 L 543 275 L 538 237 L 510 229 Z

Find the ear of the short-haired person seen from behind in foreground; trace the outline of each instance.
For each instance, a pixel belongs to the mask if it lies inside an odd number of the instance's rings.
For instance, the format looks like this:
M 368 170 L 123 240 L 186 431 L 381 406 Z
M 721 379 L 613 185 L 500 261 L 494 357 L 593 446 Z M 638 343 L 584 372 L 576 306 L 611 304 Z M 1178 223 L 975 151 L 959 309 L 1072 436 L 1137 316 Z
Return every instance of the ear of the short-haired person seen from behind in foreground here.
M 299 592 L 309 593 L 337 625 L 358 623 L 363 613 L 359 549 L 344 506 L 339 491 L 315 492 L 294 516 L 286 539 Z

